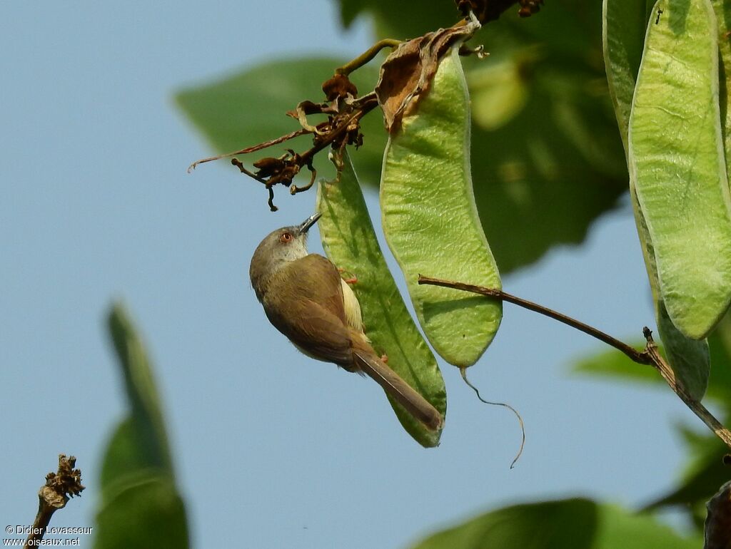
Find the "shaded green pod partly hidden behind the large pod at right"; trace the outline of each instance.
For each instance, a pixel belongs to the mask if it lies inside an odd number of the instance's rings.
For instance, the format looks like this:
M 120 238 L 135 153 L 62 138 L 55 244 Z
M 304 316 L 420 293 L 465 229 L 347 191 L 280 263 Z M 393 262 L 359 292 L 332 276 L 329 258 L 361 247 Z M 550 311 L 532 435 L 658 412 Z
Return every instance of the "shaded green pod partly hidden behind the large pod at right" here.
M 629 113 L 632 107 L 632 95 L 635 92 L 637 72 L 640 69 L 645 31 L 648 25 L 654 24 L 653 17 L 658 14 L 651 11 L 648 0 L 647 9 L 635 0 L 604 0 L 603 39 L 605 67 L 609 82 L 610 94 L 617 115 L 619 132 L 625 150 L 628 147 L 627 131 Z M 686 337 L 670 320 L 659 293 L 657 266 L 652 241 L 648 233 L 643 213 L 637 202 L 635 181 L 630 174 L 629 194 L 632 197 L 632 210 L 635 212 L 637 235 L 640 237 L 647 275 L 655 304 L 655 317 L 660 338 L 664 343 L 664 352 L 673 372 L 683 386 L 694 397 L 700 400 L 708 386 L 708 375 L 711 370 L 711 357 L 708 342 Z

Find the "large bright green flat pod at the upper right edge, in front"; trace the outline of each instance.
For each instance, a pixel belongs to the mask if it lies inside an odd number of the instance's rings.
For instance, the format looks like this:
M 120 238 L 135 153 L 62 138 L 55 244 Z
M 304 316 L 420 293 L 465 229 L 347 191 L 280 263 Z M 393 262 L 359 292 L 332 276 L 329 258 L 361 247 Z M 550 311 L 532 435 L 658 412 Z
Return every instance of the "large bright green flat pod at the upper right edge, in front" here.
M 731 301 L 731 194 L 708 0 L 659 0 L 629 118 L 629 169 L 673 324 L 702 339 Z

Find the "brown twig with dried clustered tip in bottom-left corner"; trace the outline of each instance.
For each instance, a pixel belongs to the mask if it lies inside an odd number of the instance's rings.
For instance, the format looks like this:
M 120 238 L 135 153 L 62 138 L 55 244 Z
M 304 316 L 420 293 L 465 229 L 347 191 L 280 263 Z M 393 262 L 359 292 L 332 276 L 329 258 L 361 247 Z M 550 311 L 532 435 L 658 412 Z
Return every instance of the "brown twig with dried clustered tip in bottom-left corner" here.
M 81 471 L 74 469 L 76 458 L 64 454 L 58 456 L 58 472 L 46 475 L 46 482 L 38 492 L 38 512 L 31 526 L 31 533 L 26 540 L 25 549 L 36 547 L 43 539 L 53 513 L 63 509 L 69 497 L 80 496 L 84 487 L 81 485 Z

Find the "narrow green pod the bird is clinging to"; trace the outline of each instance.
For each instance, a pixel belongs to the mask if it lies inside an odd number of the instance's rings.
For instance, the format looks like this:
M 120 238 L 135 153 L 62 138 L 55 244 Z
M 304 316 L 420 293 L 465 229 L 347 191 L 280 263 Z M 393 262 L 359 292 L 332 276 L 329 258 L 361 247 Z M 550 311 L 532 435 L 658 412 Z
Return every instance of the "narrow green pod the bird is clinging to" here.
M 391 276 L 368 216 L 350 159 L 344 155 L 340 179 L 320 182 L 317 188 L 317 223 L 322 247 L 330 261 L 349 276 L 363 312 L 366 334 L 388 366 L 427 399 L 444 417 L 447 391 L 442 372 L 419 333 Z M 441 432 L 429 431 L 401 404 L 389 397 L 404 429 L 427 448 L 439 444 Z

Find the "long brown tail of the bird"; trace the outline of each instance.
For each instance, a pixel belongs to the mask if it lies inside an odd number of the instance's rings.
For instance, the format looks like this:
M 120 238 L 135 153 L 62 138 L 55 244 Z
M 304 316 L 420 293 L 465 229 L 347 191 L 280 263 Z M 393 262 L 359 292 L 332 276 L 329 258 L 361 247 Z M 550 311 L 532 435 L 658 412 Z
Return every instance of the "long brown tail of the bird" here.
M 384 391 L 401 404 L 406 411 L 432 431 L 439 431 L 444 426 L 444 419 L 423 396 L 414 391 L 411 385 L 384 364 L 379 358 L 365 350 L 354 349 L 357 365 L 368 377 L 372 377 Z

